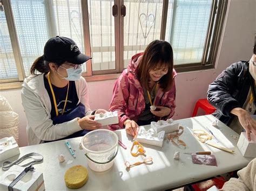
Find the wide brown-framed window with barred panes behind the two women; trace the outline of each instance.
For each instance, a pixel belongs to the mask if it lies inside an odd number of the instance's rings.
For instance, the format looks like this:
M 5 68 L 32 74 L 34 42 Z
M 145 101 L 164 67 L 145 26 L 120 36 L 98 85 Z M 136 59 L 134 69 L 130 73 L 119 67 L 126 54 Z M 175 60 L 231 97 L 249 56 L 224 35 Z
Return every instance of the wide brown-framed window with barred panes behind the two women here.
M 227 1 L 2 0 L 0 83 L 22 82 L 54 36 L 92 56 L 87 80 L 117 77 L 155 39 L 169 41 L 178 72 L 214 67 Z M 105 75 L 109 74 L 109 75 Z M 112 75 L 116 74 L 116 75 Z

